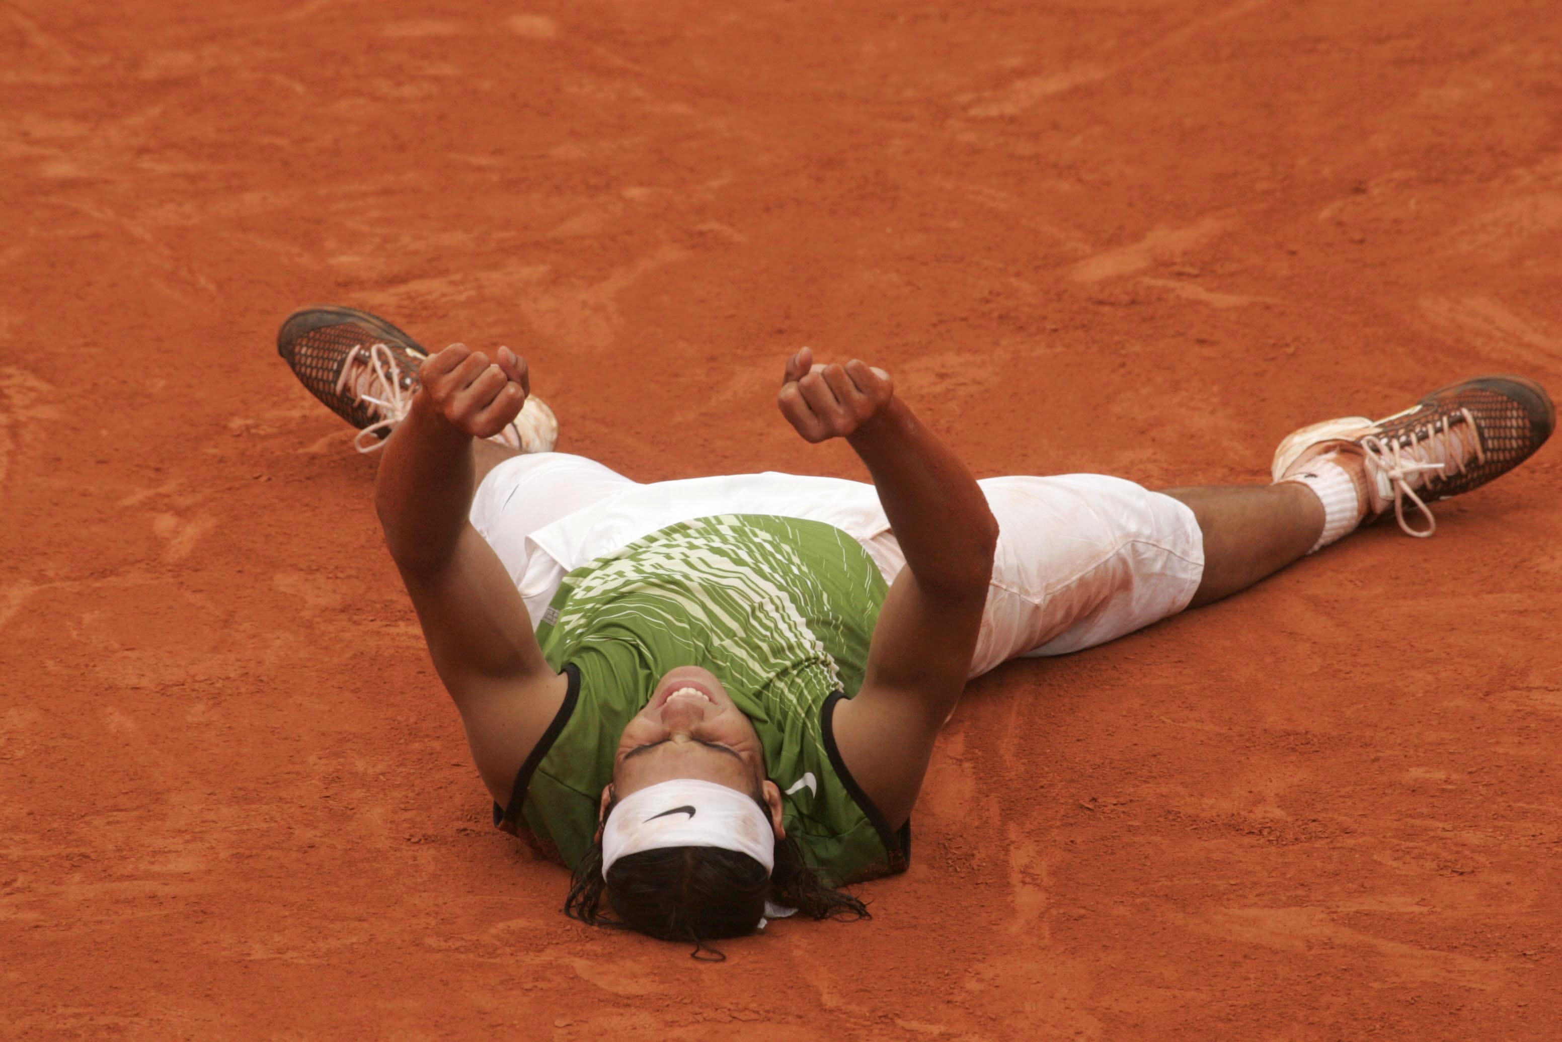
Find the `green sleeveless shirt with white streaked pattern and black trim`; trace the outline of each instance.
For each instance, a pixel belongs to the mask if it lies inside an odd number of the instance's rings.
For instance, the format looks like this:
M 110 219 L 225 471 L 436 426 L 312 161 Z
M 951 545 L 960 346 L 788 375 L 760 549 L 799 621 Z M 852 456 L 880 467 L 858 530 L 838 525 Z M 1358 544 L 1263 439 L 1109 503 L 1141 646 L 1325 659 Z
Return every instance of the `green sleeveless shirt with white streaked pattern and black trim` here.
M 862 686 L 886 593 L 845 532 L 759 515 L 673 524 L 576 568 L 537 629 L 569 694 L 495 824 L 573 867 L 625 724 L 669 669 L 703 666 L 753 722 L 809 864 L 833 884 L 904 870 L 909 828 L 862 796 L 829 725 Z

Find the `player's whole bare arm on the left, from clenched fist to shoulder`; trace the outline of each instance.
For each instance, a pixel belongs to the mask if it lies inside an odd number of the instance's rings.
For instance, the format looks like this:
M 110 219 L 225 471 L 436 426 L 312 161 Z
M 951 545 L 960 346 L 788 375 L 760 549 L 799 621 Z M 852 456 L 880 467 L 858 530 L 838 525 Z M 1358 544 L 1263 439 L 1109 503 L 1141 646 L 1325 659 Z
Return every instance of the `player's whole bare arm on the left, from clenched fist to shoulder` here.
M 386 445 L 375 509 L 472 758 L 503 805 L 567 686 L 548 668 L 503 563 L 467 519 L 472 438 L 515 418 L 526 370 L 508 351 L 494 363 L 453 346 L 420 376 L 423 387 Z

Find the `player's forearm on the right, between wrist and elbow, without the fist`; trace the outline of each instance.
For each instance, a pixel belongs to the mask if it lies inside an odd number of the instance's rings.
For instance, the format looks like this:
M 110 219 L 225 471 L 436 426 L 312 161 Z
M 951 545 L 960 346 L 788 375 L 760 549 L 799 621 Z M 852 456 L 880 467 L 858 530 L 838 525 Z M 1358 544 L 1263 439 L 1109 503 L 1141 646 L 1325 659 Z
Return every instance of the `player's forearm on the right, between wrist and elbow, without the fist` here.
M 965 463 L 898 398 L 847 441 L 873 474 L 917 582 L 925 590 L 986 588 L 998 521 Z

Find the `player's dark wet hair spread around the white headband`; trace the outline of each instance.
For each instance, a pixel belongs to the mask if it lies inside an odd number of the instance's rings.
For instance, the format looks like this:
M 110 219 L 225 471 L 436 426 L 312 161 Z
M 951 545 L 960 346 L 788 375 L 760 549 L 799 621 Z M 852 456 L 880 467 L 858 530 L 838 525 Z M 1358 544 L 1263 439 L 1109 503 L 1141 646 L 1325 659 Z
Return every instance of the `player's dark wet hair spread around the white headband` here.
M 758 796 L 754 800 L 769 816 L 765 802 Z M 608 814 L 617 805 L 614 797 Z M 775 861 L 767 877 L 765 866 L 725 847 L 661 847 L 619 858 L 604 880 L 597 839 L 575 866 L 564 914 L 592 927 L 686 941 L 695 945 L 694 958 L 715 962 L 726 956 L 706 942 L 753 933 L 765 914 L 765 900 L 809 919 L 872 917 L 867 905 L 828 886 L 818 869 L 809 867 L 797 839 L 778 839 Z

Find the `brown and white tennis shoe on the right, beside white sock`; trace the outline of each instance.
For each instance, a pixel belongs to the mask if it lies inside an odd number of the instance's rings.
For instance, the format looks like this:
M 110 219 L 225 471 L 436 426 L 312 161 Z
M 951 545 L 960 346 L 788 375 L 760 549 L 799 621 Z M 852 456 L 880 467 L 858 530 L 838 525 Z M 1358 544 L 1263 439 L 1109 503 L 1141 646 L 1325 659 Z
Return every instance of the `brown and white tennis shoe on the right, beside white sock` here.
M 1435 390 L 1384 420 L 1343 416 L 1303 427 L 1275 449 L 1275 480 L 1295 477 L 1320 459 L 1350 471 L 1362 521 L 1390 510 L 1400 527 L 1425 538 L 1437 530 L 1428 502 L 1479 488 L 1545 445 L 1556 406 L 1545 388 L 1520 376 L 1479 376 Z M 1406 509 L 1425 526 L 1412 526 Z M 1414 516 L 1414 515 L 1412 515 Z

